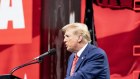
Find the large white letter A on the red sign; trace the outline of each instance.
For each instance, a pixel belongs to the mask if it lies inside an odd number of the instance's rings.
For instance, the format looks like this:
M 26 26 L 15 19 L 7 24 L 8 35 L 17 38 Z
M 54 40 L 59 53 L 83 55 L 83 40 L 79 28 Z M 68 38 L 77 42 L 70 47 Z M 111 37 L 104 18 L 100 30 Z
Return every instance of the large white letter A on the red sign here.
M 11 4 L 9 6 L 9 4 Z M 0 29 L 8 29 L 8 21 L 13 22 L 13 29 L 24 29 L 22 0 L 2 0 L 0 5 Z

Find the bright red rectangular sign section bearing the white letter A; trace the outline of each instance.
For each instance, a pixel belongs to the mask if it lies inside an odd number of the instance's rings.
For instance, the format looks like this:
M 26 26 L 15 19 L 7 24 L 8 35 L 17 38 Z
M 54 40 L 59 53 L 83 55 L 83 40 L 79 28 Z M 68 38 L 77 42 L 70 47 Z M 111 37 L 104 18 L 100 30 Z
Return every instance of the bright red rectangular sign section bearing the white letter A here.
M 0 37 L 0 44 L 31 42 L 32 0 L 0 0 Z

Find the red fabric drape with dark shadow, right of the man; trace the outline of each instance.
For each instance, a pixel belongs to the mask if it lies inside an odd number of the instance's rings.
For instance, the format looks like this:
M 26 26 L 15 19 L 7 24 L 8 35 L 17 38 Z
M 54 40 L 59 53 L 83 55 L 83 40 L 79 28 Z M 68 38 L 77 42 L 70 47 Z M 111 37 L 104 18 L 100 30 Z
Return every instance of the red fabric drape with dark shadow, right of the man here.
M 123 79 L 132 79 L 133 72 L 139 71 L 140 66 L 139 56 L 133 55 L 133 46 L 140 45 L 140 13 L 96 5 L 94 11 L 98 43 L 108 54 L 111 78 L 119 79 L 113 76 L 117 74 Z

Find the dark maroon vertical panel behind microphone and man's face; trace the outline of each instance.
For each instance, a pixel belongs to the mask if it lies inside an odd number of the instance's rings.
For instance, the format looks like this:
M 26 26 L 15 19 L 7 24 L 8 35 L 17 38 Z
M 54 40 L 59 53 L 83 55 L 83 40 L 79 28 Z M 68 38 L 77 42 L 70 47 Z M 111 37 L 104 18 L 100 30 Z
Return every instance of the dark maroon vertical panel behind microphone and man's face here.
M 69 23 L 71 12 L 80 21 L 80 0 L 42 0 L 41 52 L 56 48 L 56 55 L 46 57 L 41 64 L 41 79 L 64 79 L 70 53 L 63 45 L 60 29 Z

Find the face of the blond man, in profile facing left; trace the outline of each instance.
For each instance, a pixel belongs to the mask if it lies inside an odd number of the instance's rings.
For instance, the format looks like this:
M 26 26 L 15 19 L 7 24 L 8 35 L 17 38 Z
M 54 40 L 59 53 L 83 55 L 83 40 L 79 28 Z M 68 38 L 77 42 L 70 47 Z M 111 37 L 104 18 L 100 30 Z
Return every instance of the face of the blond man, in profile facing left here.
M 68 29 L 64 34 L 64 43 L 70 52 L 75 52 L 78 45 L 78 36 L 73 34 L 73 32 L 74 30 Z

